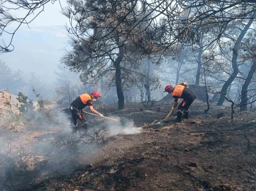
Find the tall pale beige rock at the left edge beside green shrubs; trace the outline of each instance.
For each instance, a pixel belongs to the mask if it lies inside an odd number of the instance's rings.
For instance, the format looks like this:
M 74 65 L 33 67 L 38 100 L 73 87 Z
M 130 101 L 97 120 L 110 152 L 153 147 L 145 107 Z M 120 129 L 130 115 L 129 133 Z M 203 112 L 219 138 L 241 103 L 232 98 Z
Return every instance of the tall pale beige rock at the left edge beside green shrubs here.
M 6 90 L 0 91 L 0 126 L 8 124 L 8 121 L 14 118 L 10 102 L 10 93 Z

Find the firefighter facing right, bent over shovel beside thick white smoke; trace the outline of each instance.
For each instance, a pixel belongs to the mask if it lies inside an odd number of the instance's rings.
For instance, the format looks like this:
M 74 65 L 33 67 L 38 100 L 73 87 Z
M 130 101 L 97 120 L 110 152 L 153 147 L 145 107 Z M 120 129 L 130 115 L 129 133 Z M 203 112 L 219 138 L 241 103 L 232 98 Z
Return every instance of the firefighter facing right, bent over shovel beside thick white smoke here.
M 82 123 L 83 129 L 87 130 L 87 119 L 83 115 L 83 108 L 86 106 L 89 106 L 90 111 L 96 113 L 98 116 L 104 118 L 103 114 L 100 114 L 95 109 L 93 109 L 92 106 L 92 100 L 96 100 L 100 97 L 99 93 L 96 91 L 93 91 L 90 94 L 84 93 L 81 94 L 77 99 L 75 99 L 71 105 L 69 106 L 69 110 L 72 114 L 72 126 L 73 130 L 76 131 L 77 129 L 77 119 L 79 119 Z

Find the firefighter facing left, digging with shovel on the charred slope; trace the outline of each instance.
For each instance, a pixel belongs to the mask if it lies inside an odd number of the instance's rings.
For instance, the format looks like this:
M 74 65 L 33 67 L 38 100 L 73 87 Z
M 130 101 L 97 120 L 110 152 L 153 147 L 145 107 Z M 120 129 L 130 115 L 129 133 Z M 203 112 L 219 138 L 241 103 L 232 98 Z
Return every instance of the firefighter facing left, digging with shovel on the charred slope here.
M 171 85 L 167 85 L 165 87 L 165 92 L 172 93 L 172 97 L 174 100 L 173 108 L 177 107 L 178 105 L 178 98 L 182 98 L 183 101 L 178 106 L 177 111 L 177 122 L 182 123 L 182 114 L 184 111 L 184 119 L 189 118 L 189 106 L 193 103 L 193 101 L 196 99 L 196 94 L 193 90 L 190 90 L 187 88 L 188 83 L 183 82 L 181 84 L 178 84 L 174 88 Z

